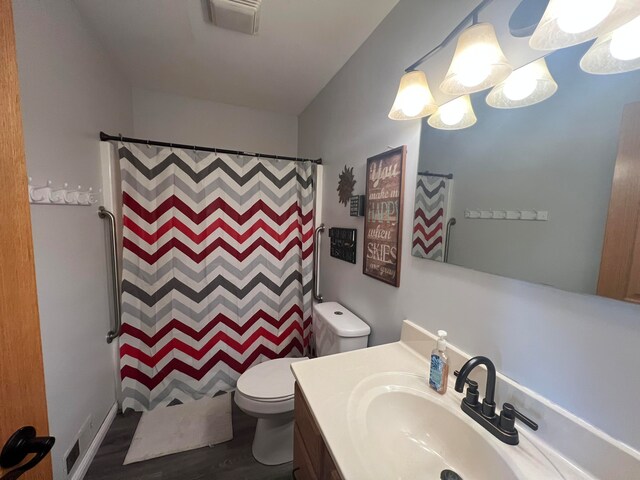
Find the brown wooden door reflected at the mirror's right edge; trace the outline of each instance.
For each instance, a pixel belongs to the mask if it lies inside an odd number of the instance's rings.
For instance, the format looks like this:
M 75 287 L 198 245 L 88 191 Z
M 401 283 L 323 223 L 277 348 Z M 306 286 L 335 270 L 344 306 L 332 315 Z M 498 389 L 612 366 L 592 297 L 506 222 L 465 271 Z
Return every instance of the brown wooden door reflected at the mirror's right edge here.
M 624 109 L 598 295 L 640 303 L 640 103 Z

